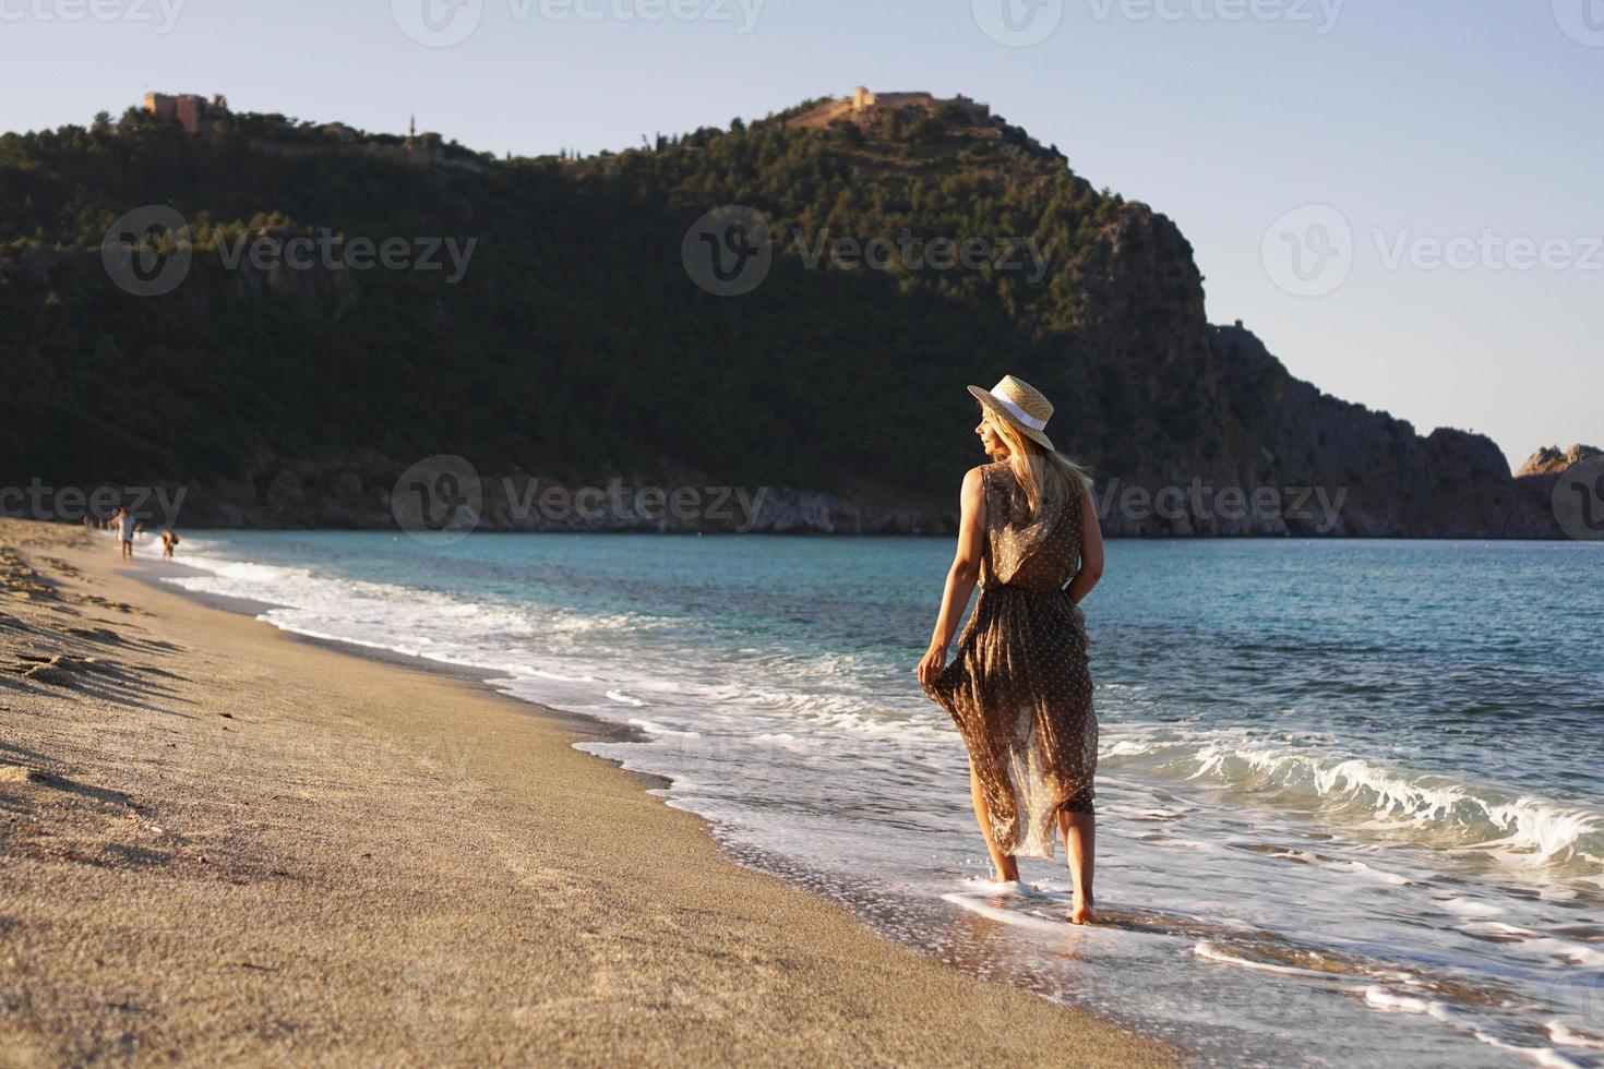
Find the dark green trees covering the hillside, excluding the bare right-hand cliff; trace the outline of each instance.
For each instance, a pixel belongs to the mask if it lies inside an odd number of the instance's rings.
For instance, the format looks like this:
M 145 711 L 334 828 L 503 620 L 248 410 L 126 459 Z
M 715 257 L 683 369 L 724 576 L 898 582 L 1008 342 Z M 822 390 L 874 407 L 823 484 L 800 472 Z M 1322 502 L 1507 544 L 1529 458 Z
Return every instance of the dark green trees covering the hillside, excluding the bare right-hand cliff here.
M 946 492 L 974 455 L 962 383 L 1063 367 L 1088 252 L 1142 212 L 1017 130 L 940 115 L 866 130 L 775 117 L 605 167 L 481 171 L 335 152 L 327 130 L 236 117 L 191 136 L 130 111 L 0 138 L 0 359 L 26 383 L 0 401 L 8 478 L 237 479 L 367 449 Z M 268 135 L 330 152 L 273 154 Z M 98 247 L 148 204 L 183 213 L 196 260 L 173 293 L 140 298 L 109 282 Z M 767 282 L 741 298 L 701 292 L 680 263 L 687 226 L 725 204 L 765 213 L 776 240 Z M 322 231 L 478 245 L 456 285 L 383 269 L 269 279 L 218 256 L 220 240 Z M 1035 285 L 993 268 L 808 269 L 826 232 L 1030 237 L 1052 258 Z

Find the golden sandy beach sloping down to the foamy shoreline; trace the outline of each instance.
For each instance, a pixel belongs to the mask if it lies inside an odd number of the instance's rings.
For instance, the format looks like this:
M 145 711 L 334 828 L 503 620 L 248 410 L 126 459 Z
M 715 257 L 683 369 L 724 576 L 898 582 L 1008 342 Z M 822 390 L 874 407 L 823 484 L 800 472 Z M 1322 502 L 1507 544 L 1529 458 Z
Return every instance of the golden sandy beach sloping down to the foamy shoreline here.
M 571 720 L 0 547 L 0 1064 L 1179 1058 L 728 861 Z

